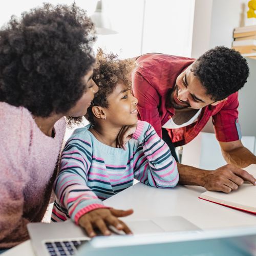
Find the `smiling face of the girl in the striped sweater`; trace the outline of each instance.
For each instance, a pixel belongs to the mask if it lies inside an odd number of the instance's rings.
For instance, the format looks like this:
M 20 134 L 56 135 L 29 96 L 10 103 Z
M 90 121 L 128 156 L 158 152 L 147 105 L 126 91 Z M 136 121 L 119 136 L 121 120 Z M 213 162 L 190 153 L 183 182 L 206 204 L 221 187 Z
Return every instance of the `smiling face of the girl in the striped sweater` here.
M 105 116 L 108 122 L 115 126 L 133 125 L 138 121 L 138 100 L 132 95 L 131 89 L 118 83 L 113 93 L 108 97 L 108 108 Z

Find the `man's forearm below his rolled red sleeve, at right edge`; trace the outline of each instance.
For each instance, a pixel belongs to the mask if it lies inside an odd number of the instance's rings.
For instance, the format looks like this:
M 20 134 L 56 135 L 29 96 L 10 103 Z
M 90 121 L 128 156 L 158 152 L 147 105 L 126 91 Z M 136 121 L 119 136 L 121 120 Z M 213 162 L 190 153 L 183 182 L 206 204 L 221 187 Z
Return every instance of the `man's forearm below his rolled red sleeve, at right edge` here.
M 244 168 L 250 164 L 256 164 L 256 156 L 254 156 L 244 146 L 234 148 L 234 150 L 229 152 L 222 150 L 222 155 L 228 164 L 233 164 L 238 168 Z

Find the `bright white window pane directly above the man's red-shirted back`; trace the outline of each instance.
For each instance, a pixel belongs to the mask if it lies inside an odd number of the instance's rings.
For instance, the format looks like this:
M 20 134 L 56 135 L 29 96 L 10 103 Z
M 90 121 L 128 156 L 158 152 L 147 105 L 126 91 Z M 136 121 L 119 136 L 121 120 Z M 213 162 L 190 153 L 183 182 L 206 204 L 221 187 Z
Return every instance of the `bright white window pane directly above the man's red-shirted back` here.
M 190 56 L 195 0 L 147 0 L 142 53 Z

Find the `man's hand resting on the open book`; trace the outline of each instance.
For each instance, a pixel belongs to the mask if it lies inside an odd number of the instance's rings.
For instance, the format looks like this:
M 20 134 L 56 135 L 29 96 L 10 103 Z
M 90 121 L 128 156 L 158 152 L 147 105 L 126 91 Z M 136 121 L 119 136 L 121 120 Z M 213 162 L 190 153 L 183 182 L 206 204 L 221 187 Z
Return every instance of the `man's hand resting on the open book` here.
M 207 172 L 202 177 L 202 180 L 207 190 L 223 191 L 225 193 L 238 189 L 244 181 L 249 181 L 251 184 L 256 185 L 256 179 L 247 173 L 246 170 L 239 169 L 230 164 Z

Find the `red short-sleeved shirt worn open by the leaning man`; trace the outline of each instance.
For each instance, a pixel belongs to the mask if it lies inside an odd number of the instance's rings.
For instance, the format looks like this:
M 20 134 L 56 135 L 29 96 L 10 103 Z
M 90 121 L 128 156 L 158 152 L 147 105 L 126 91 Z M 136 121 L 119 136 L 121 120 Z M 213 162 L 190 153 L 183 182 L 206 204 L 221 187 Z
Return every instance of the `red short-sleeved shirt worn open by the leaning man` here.
M 195 59 L 145 54 L 137 58 L 138 68 L 133 74 L 133 94 L 138 99 L 138 116 L 149 122 L 162 137 L 162 126 L 175 115 L 175 109 L 166 106 L 167 93 L 175 86 L 176 78 Z M 215 134 L 219 141 L 241 139 L 238 122 L 238 93 L 228 96 L 216 106 L 205 106 L 198 120 L 178 129 L 167 129 L 175 146 L 193 140 L 212 116 Z

